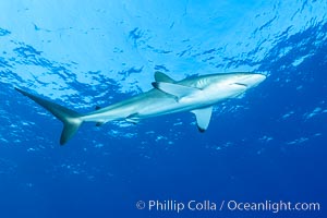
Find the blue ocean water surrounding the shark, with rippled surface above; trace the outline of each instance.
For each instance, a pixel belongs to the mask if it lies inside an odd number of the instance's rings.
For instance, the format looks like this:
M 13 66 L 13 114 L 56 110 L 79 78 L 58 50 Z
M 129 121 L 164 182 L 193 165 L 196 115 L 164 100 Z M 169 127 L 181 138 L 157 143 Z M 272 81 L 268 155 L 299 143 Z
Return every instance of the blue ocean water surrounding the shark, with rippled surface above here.
M 0 1 L 0 217 L 326 217 L 326 11 L 316 0 Z M 267 78 L 217 105 L 204 134 L 185 112 L 87 123 L 63 147 L 62 124 L 14 90 L 86 112 L 150 89 L 155 71 Z

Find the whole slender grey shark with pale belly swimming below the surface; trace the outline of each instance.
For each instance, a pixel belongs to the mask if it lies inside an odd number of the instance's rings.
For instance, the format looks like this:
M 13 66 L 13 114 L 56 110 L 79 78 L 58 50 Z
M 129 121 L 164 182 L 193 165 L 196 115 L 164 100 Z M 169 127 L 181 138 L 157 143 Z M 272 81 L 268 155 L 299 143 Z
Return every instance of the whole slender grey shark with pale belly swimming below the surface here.
M 266 78 L 258 73 L 220 73 L 174 81 L 156 72 L 154 88 L 105 108 L 81 114 L 56 102 L 32 95 L 20 88 L 17 92 L 51 112 L 63 122 L 60 144 L 65 144 L 77 132 L 83 122 L 101 125 L 113 120 L 137 123 L 145 118 L 191 111 L 195 114 L 197 128 L 204 132 L 211 118 L 213 106 L 227 98 L 233 98 L 254 87 Z

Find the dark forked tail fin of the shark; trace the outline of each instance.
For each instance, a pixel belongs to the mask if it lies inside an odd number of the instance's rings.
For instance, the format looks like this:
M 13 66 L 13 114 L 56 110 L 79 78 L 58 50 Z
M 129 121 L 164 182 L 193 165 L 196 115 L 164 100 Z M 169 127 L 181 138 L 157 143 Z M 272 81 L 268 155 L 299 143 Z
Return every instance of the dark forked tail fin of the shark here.
M 47 110 L 49 110 L 56 118 L 63 122 L 63 130 L 60 137 L 60 145 L 65 144 L 69 140 L 73 137 L 73 135 L 77 132 L 78 128 L 83 123 L 82 116 L 73 110 L 64 108 L 58 104 L 51 102 L 44 98 L 34 96 L 25 90 L 20 88 L 15 88 L 17 92 L 27 96 L 35 102 L 39 104 Z

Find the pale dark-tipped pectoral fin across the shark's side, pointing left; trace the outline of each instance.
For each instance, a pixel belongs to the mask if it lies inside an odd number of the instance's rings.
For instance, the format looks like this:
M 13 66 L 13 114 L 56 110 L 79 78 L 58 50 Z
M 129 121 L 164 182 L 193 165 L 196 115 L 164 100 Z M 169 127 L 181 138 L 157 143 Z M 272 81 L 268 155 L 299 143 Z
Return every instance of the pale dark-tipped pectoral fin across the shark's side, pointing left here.
M 175 96 L 178 99 L 201 92 L 199 88 L 173 84 L 173 83 L 153 83 L 153 86 L 164 93 Z

